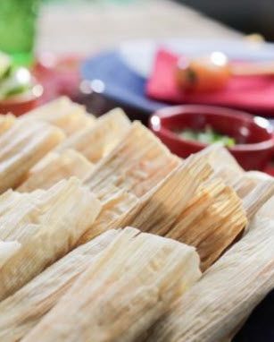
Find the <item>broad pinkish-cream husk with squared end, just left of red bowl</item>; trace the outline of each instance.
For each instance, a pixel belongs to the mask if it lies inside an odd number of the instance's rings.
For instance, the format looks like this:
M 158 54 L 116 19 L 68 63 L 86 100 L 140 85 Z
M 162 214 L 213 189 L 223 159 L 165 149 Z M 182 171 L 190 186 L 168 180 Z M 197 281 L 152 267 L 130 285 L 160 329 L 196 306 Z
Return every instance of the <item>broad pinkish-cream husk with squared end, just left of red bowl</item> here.
M 134 123 L 120 144 L 97 164 L 85 184 L 95 193 L 113 184 L 141 197 L 179 164 L 180 159 L 171 155 L 153 133 Z

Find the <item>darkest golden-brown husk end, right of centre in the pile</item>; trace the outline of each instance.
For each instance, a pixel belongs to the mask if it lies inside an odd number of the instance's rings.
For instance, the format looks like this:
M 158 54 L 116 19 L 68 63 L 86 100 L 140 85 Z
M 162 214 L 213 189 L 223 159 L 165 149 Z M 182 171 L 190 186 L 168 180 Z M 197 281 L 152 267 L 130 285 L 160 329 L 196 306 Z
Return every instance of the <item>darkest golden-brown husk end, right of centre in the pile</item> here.
M 236 192 L 216 179 L 204 184 L 166 236 L 195 246 L 207 269 L 247 226 Z

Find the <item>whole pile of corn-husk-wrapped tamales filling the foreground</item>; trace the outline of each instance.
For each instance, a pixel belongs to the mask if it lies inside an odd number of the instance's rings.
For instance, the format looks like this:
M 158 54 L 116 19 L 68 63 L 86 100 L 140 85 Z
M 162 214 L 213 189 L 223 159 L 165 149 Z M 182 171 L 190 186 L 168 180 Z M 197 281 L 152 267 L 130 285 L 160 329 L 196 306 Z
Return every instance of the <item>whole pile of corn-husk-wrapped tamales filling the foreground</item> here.
M 1 341 L 222 342 L 274 287 L 274 181 L 219 145 L 57 98 L 0 117 L 0 177 Z

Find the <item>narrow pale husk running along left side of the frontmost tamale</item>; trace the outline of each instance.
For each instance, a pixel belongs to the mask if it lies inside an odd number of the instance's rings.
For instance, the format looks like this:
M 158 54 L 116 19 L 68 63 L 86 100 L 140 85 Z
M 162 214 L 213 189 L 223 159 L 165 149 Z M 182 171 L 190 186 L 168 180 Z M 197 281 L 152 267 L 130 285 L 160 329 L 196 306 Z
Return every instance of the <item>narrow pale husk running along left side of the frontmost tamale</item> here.
M 0 340 L 16 342 L 23 338 L 90 266 L 95 255 L 102 252 L 118 234 L 119 231 L 112 229 L 88 244 L 83 244 L 2 301 Z

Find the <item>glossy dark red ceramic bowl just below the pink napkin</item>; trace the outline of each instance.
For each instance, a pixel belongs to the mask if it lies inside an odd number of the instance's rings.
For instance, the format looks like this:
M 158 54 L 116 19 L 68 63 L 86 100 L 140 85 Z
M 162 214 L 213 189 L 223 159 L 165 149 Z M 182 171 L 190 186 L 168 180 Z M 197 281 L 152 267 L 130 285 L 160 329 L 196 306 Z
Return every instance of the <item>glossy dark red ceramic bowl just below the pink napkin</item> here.
M 149 124 L 170 151 L 182 158 L 203 150 L 207 145 L 184 140 L 175 131 L 203 130 L 206 125 L 236 139 L 237 145 L 228 150 L 245 170 L 262 170 L 274 151 L 273 127 L 268 120 L 225 107 L 165 107 L 151 116 Z

